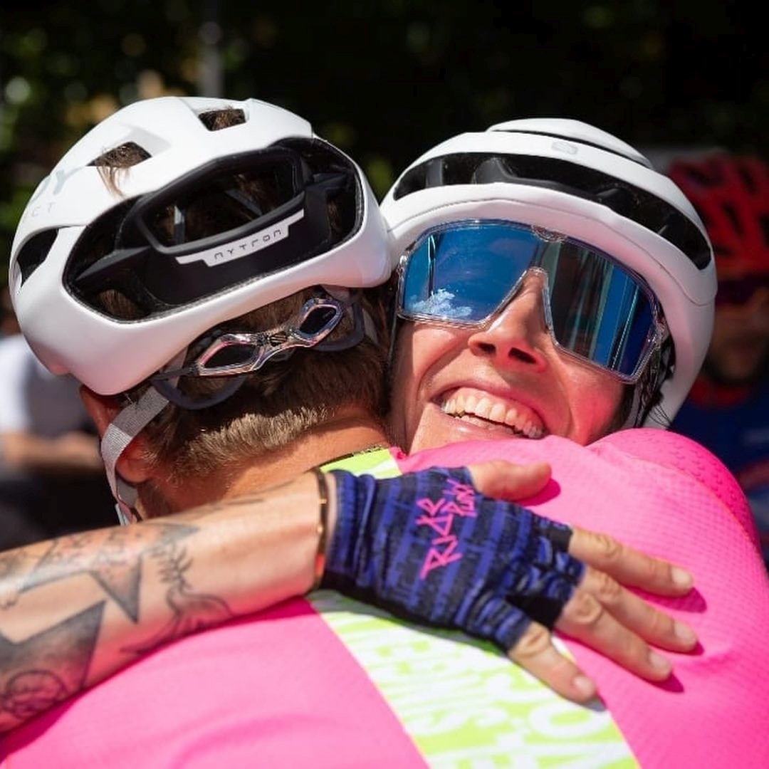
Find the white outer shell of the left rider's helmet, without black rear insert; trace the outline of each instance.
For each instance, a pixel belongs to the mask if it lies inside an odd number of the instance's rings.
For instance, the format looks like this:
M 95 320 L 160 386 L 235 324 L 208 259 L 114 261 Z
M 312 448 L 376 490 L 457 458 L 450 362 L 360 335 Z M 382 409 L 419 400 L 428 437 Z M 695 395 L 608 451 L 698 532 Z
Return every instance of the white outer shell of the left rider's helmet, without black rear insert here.
M 218 131 L 199 115 L 241 110 L 245 122 Z M 162 97 L 135 102 L 83 136 L 38 185 L 12 245 L 9 285 L 19 324 L 38 358 L 57 374 L 115 394 L 158 371 L 191 341 L 218 325 L 312 285 L 348 288 L 385 281 L 394 267 L 378 205 L 361 169 L 338 150 L 357 178 L 357 217 L 347 237 L 304 261 L 239 279 L 223 290 L 134 321 L 118 320 L 81 301 L 68 281 L 68 259 L 88 225 L 126 200 L 160 191 L 206 164 L 271 148 L 287 139 L 318 141 L 304 119 L 256 99 Z M 121 195 L 92 165 L 105 151 L 132 143 L 149 157 L 121 171 Z M 330 145 L 327 145 L 330 146 Z M 52 242 L 32 268 L 19 255 L 36 236 Z M 201 259 L 196 268 L 201 268 Z M 22 259 L 23 261 L 23 259 Z M 181 260 L 177 260 L 181 261 Z M 217 270 L 210 266 L 211 274 Z

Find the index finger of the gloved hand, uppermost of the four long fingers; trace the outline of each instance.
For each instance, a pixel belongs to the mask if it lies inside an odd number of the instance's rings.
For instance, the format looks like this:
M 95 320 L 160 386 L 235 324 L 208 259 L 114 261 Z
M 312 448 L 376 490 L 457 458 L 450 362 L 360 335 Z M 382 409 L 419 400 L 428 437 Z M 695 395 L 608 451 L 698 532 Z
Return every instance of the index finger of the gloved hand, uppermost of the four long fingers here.
M 634 550 L 608 534 L 575 527 L 569 553 L 622 584 L 656 595 L 684 595 L 694 584 L 691 574 L 680 566 Z

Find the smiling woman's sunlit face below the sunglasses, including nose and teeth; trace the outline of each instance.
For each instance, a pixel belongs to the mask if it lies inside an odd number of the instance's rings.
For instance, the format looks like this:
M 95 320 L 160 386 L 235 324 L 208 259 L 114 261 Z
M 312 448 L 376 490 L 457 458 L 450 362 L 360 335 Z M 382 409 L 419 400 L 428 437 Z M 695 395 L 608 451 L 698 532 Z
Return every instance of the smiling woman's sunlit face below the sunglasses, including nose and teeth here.
M 606 434 L 624 385 L 556 348 L 541 288 L 531 272 L 483 328 L 402 324 L 391 420 L 399 445 L 548 434 L 588 444 Z

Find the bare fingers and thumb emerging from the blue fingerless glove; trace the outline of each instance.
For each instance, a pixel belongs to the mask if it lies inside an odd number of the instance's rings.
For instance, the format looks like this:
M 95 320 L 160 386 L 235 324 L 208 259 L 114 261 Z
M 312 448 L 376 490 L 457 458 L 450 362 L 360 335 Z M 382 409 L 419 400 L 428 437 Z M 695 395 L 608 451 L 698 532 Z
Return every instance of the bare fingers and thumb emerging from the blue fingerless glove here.
M 541 491 L 551 472 L 547 463 L 515 465 L 505 461 L 479 463 L 468 469 L 478 491 L 510 501 Z M 691 574 L 607 534 L 581 528 L 574 528 L 568 552 L 588 568 L 555 627 L 640 677 L 649 681 L 667 678 L 671 662 L 653 647 L 691 651 L 696 635 L 623 584 L 676 597 L 691 590 Z M 572 701 L 588 701 L 596 693 L 594 684 L 574 661 L 554 647 L 551 634 L 541 624 L 532 622 L 509 656 Z

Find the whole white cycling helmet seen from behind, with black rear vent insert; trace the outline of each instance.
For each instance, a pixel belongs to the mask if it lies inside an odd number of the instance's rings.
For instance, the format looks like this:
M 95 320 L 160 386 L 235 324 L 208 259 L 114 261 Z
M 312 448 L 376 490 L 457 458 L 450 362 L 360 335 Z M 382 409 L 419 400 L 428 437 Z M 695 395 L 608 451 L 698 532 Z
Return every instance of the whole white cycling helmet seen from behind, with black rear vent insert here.
M 225 108 L 240 110 L 244 122 L 215 130 L 201 121 Z M 118 195 L 95 161 L 120 148 L 145 159 L 121 171 Z M 186 202 L 214 190 L 239 205 L 227 182 L 244 173 L 269 178 L 281 205 L 261 215 L 243 202 L 247 224 L 185 238 Z M 329 236 L 331 198 L 342 211 L 341 238 Z M 170 236 L 153 226 L 168 206 L 178 218 Z M 105 231 L 114 241 L 94 263 L 95 238 Z M 88 131 L 38 185 L 15 234 L 9 285 L 38 358 L 116 394 L 222 321 L 312 285 L 382 283 L 393 268 L 384 233 L 360 168 L 304 119 L 256 99 L 151 98 Z M 105 288 L 129 295 L 143 317 L 126 321 L 98 308 Z

